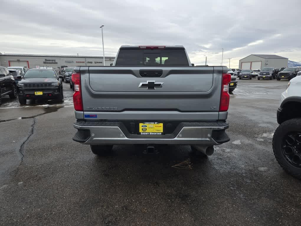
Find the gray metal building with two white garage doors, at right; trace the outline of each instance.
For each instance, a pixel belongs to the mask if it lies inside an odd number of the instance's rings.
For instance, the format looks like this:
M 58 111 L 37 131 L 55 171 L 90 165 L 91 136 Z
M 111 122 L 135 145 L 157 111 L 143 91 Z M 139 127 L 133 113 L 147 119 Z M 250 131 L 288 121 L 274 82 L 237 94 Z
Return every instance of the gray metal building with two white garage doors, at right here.
M 288 58 L 278 55 L 251 54 L 239 61 L 241 69 L 258 70 L 262 67 L 287 67 Z

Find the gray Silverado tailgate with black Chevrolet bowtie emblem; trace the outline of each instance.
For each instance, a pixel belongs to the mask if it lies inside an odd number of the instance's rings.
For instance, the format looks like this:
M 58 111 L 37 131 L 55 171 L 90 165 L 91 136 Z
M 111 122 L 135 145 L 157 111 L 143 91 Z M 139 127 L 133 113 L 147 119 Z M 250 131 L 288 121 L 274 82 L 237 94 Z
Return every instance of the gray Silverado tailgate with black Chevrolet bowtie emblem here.
M 219 119 L 222 73 L 226 73 L 226 67 L 90 66 L 79 70 L 83 118 Z

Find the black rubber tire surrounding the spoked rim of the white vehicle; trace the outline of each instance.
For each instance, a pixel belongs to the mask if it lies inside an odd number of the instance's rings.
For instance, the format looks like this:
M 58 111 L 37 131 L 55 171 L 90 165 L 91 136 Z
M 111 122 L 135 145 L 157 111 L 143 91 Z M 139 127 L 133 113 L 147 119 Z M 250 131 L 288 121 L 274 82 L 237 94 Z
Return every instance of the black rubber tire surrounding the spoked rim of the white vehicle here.
M 279 165 L 287 173 L 289 173 L 293 177 L 301 179 L 301 167 L 296 167 L 295 165 L 293 165 L 293 163 L 289 161 L 289 154 L 285 154 L 284 152 L 284 145 L 285 147 L 290 146 L 287 143 L 284 143 L 284 138 L 286 136 L 288 137 L 288 134 L 292 132 L 301 133 L 301 118 L 293 118 L 287 120 L 278 126 L 273 136 L 273 152 Z M 287 140 L 285 141 L 288 142 Z M 294 142 L 299 143 L 297 140 L 295 140 Z M 299 152 L 300 146 L 296 145 L 296 147 L 297 148 L 295 148 L 295 150 Z M 296 153 L 296 155 L 299 155 L 298 152 Z

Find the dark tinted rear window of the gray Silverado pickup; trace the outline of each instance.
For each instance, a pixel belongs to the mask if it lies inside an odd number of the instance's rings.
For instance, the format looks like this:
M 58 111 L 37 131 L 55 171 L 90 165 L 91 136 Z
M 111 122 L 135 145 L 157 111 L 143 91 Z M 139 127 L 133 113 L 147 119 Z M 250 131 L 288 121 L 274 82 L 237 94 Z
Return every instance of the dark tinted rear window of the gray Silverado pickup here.
M 189 66 L 184 49 L 120 49 L 115 66 Z

